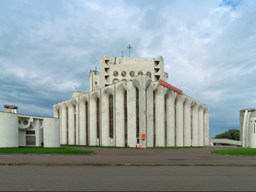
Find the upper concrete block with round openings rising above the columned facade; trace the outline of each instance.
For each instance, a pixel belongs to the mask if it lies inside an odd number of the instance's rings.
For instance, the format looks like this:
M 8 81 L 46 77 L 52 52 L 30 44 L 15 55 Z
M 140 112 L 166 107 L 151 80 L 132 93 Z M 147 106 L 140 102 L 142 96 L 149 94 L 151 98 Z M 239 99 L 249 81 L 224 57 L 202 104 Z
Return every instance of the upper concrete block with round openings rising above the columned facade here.
M 92 72 L 91 72 L 92 73 Z M 95 90 L 96 79 L 94 73 L 90 73 L 90 89 L 89 91 Z M 154 58 L 126 58 L 126 57 L 106 57 L 102 55 L 99 59 L 99 88 L 105 87 L 106 85 L 116 84 L 117 82 L 124 80 L 125 82 L 132 79 L 134 76 L 140 74 L 146 74 L 152 78 L 155 82 L 159 79 L 167 81 L 168 74 L 164 71 L 164 60 L 163 57 L 159 56 L 157 59 Z

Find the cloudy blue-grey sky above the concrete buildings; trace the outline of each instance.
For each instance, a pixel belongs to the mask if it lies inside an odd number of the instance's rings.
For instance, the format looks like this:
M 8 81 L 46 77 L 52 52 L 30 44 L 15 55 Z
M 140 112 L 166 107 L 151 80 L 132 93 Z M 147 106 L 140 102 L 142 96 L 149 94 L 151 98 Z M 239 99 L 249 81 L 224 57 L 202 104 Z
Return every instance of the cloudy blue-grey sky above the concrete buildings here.
M 53 116 L 87 93 L 99 57 L 165 59 L 168 83 L 210 107 L 210 137 L 256 108 L 256 1 L 0 0 L 0 111 Z

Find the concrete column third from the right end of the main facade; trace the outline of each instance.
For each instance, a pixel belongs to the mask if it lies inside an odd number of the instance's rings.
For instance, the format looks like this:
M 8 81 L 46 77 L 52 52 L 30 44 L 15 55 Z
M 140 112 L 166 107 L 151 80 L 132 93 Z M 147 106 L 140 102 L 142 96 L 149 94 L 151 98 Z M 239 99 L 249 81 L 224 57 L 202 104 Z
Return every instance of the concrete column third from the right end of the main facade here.
M 192 146 L 198 146 L 198 107 L 196 103 L 192 107 Z

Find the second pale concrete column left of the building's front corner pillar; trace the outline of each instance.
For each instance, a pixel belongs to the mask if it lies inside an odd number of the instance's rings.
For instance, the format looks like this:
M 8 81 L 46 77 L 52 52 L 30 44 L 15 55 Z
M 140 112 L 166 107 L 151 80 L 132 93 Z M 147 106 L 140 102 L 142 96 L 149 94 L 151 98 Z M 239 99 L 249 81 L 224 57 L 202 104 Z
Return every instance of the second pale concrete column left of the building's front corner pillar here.
M 124 93 L 123 87 L 116 89 L 116 146 L 124 147 Z

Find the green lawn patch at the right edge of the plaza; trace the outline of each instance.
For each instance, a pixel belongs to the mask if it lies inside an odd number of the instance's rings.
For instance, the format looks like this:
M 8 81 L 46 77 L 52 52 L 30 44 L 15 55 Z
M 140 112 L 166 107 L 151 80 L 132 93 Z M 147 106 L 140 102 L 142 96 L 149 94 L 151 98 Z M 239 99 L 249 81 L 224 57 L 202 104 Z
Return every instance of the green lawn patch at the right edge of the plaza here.
M 238 148 L 238 149 L 226 149 L 220 151 L 211 151 L 212 154 L 221 155 L 256 155 L 255 148 Z

